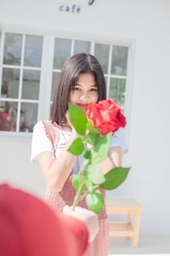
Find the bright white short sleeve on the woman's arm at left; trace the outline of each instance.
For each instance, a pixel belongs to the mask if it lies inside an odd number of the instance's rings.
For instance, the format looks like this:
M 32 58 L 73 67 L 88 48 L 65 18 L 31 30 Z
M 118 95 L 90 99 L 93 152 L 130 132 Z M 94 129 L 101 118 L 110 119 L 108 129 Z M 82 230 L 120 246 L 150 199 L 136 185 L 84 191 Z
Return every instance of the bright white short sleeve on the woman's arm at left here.
M 38 122 L 33 129 L 31 141 L 31 161 L 37 161 L 37 156 L 42 152 L 54 154 L 53 144 L 46 136 L 42 121 Z

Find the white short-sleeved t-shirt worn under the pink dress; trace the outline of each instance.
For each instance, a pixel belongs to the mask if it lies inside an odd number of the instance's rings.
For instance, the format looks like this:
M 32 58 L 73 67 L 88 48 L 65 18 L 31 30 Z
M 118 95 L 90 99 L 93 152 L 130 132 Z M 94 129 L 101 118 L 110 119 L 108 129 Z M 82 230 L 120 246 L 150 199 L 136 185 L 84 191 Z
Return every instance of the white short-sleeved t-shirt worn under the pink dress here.
M 65 131 L 59 128 L 59 141 L 57 143 L 56 150 L 54 151 L 53 143 L 48 139 L 42 121 L 38 122 L 33 129 L 32 143 L 31 143 L 31 161 L 36 161 L 37 156 L 42 152 L 50 152 L 54 154 L 56 158 L 59 157 L 62 149 L 65 148 L 65 143 L 68 141 L 71 132 Z M 126 143 L 123 137 L 122 127 L 117 130 L 111 137 L 110 148 L 122 147 L 122 152 L 127 152 Z M 75 166 L 72 173 L 77 173 L 82 165 L 83 156 L 78 155 Z

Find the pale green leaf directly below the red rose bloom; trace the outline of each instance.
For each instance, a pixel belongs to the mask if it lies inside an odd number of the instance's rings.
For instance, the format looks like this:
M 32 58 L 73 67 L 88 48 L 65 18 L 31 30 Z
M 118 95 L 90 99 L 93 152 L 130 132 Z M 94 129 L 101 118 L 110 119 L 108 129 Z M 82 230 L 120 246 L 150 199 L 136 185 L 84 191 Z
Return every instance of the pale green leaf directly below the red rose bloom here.
M 92 164 L 97 164 L 105 160 L 109 152 L 110 140 L 111 140 L 111 133 L 105 136 L 98 137 L 98 140 L 94 145 L 94 148 L 91 150 Z

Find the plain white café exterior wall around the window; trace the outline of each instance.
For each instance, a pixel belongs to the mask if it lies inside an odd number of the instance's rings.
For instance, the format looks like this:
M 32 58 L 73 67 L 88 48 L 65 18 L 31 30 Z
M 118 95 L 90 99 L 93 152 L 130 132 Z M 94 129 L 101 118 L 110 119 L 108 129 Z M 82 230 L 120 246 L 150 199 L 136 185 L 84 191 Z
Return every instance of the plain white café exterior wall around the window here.
M 77 3 L 77 1 L 70 1 Z M 88 2 L 88 1 L 87 1 Z M 49 0 L 0 0 L 2 26 L 23 30 L 133 42 L 128 104 L 126 183 L 109 196 L 133 198 L 143 207 L 141 233 L 170 235 L 170 1 L 79 1 L 81 14 L 61 13 Z M 0 137 L 0 179 L 42 196 L 44 182 L 30 163 L 31 138 Z

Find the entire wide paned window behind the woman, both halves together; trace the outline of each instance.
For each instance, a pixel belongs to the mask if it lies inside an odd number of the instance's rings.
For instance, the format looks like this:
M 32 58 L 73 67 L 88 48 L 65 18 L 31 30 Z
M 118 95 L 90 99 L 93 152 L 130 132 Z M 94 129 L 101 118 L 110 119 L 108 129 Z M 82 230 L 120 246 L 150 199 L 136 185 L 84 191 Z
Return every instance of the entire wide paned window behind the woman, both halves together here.
M 48 47 L 42 49 L 44 40 Z M 49 118 L 61 68 L 79 52 L 96 56 L 105 73 L 107 96 L 124 110 L 128 46 L 2 32 L 0 50 L 0 132 L 31 132 L 38 119 Z

